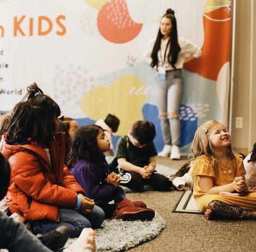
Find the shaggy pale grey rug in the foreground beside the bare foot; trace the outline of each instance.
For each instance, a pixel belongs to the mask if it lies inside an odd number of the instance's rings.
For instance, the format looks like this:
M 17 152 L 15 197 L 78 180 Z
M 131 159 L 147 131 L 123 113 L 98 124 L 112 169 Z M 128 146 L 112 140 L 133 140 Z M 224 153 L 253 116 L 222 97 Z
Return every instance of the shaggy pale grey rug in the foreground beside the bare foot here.
M 125 251 L 155 238 L 165 226 L 166 222 L 157 213 L 152 221 L 105 220 L 102 228 L 95 230 L 97 251 Z M 69 239 L 66 245 L 73 241 Z

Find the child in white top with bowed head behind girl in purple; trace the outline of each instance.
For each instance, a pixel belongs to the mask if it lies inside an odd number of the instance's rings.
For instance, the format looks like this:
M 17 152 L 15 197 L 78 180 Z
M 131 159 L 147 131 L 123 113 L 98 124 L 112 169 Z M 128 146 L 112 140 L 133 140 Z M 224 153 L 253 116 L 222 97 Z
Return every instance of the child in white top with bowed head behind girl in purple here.
M 114 156 L 112 134 L 118 131 L 119 123 L 120 123 L 120 120 L 116 116 L 111 114 L 108 114 L 105 120 L 100 119 L 100 120 L 97 120 L 97 122 L 95 122 L 96 125 L 102 127 L 106 137 L 109 139 L 109 142 L 110 142 L 110 150 L 108 151 L 109 156 Z

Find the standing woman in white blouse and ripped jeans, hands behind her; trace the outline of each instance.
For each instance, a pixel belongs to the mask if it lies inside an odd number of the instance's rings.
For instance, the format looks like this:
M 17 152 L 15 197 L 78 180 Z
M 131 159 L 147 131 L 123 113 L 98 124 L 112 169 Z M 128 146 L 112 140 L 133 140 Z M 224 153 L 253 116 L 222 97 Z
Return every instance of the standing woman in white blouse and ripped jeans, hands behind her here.
M 183 95 L 183 64 L 200 57 L 202 51 L 190 40 L 178 37 L 174 11 L 162 16 L 156 40 L 150 43 L 147 62 L 158 74 L 155 78 L 155 102 L 159 110 L 164 148 L 158 156 L 180 159 L 179 110 Z

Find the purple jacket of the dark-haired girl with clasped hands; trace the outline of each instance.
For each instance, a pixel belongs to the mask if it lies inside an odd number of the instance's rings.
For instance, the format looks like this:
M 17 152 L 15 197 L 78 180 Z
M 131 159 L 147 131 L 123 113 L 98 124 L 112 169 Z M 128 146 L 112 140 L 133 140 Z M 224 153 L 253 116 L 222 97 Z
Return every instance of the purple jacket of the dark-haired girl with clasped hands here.
M 79 159 L 71 169 L 71 173 L 85 190 L 86 197 L 92 198 L 95 202 L 99 200 L 108 202 L 113 198 L 116 187 L 105 181 L 107 175 L 111 173 L 106 160 L 96 165 L 92 161 Z

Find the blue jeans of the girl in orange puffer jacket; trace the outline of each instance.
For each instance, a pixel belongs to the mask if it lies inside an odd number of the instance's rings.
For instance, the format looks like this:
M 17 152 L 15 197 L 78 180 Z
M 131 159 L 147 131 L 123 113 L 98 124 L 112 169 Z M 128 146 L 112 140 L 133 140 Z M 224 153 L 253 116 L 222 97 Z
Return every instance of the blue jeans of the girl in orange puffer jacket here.
M 70 228 L 70 238 L 75 238 L 80 236 L 85 227 L 99 228 L 104 217 L 104 211 L 97 205 L 88 215 L 82 215 L 73 209 L 59 209 L 59 222 L 51 220 L 30 221 L 30 227 L 34 234 L 46 234 L 59 226 L 67 226 Z

